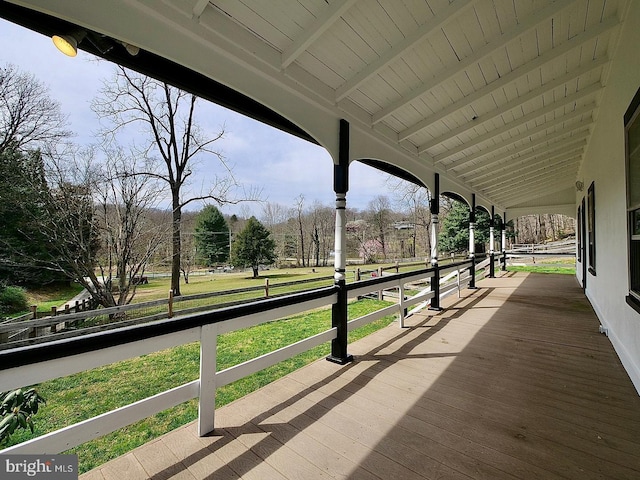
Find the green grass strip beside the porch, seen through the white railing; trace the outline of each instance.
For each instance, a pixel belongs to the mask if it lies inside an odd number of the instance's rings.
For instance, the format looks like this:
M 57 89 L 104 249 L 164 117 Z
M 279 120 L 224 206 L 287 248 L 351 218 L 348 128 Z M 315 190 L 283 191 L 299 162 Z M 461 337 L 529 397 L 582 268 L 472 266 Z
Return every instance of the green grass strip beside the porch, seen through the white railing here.
M 388 302 L 361 300 L 349 305 L 349 318 L 357 318 L 388 305 Z M 351 332 L 350 341 L 362 338 L 394 320 L 386 317 Z M 330 309 L 308 312 L 231 332 L 218 339 L 218 370 L 289 345 L 330 328 Z M 323 344 L 287 361 L 220 388 L 216 404 L 225 405 L 293 370 L 328 355 Z M 198 378 L 199 344 L 137 357 L 38 385 L 47 405 L 34 418 L 35 436 L 63 428 L 87 418 L 146 398 Z M 70 452 L 77 453 L 80 471 L 85 472 L 142 445 L 197 417 L 195 400 L 161 412 L 102 438 L 87 442 Z M 31 438 L 20 431 L 12 444 Z

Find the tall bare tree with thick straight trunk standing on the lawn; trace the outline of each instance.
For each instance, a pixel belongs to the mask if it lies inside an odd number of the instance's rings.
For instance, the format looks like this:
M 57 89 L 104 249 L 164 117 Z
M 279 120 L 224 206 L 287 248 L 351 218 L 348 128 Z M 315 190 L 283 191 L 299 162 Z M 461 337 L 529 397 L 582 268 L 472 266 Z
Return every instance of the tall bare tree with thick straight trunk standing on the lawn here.
M 129 125 L 141 126 L 146 141 L 141 146 L 145 157 L 158 156 L 159 165 L 139 175 L 155 177 L 167 184 L 172 209 L 171 289 L 180 295 L 182 209 L 196 201 L 213 200 L 218 204 L 237 203 L 231 198 L 235 179 L 221 153 L 213 145 L 224 136 L 224 129 L 205 135 L 196 122 L 197 97 L 149 77 L 117 67 L 115 78 L 105 82 L 92 107 L 109 127 L 107 137 Z M 215 158 L 224 174 L 216 176 L 208 189 L 189 195 L 184 188 L 198 159 Z

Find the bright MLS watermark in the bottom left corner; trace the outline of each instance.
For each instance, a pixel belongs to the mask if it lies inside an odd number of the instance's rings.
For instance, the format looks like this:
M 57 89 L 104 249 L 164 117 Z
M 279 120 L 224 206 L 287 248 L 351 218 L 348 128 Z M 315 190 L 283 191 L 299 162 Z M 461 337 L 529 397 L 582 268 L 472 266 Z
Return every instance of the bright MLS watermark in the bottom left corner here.
M 77 455 L 0 455 L 2 480 L 77 480 Z

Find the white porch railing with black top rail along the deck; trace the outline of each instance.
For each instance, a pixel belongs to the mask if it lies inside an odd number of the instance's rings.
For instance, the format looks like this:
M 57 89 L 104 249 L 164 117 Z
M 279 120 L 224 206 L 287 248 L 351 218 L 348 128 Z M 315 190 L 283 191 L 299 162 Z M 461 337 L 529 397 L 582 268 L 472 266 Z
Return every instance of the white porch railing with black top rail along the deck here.
M 440 297 L 455 292 L 468 282 L 465 273 L 470 261 L 440 269 L 448 277 Z M 348 330 L 373 322 L 386 315 L 399 313 L 403 325 L 406 310 L 433 298 L 430 289 L 405 298 L 405 285 L 431 279 L 433 268 L 417 272 L 392 274 L 347 285 L 350 298 L 380 289 L 398 289 L 397 304 L 348 322 Z M 317 345 L 336 338 L 330 328 L 279 350 L 216 372 L 218 335 L 247 328 L 311 309 L 333 304 L 338 287 L 331 286 L 286 297 L 260 300 L 212 312 L 161 320 L 149 324 L 118 328 L 83 337 L 20 347 L 0 352 L 0 391 L 64 377 L 113 362 L 138 357 L 187 343 L 200 342 L 200 377 L 130 405 L 70 425 L 55 432 L 0 451 L 1 454 L 59 453 L 101 437 L 158 412 L 199 398 L 198 430 L 204 435 L 214 428 L 216 389 L 291 358 Z

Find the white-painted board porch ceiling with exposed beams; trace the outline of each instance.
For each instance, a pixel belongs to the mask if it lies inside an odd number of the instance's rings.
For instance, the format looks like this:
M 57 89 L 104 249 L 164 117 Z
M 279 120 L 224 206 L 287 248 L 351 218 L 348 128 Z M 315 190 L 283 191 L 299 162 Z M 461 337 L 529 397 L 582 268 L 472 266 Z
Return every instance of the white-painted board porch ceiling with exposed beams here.
M 281 113 L 335 154 L 518 209 L 573 205 L 627 0 L 34 0 Z M 327 126 L 330 124 L 330 126 Z M 358 142 L 354 141 L 354 145 Z M 373 155 L 371 155 L 373 156 Z M 551 208 L 551 207 L 550 207 Z

